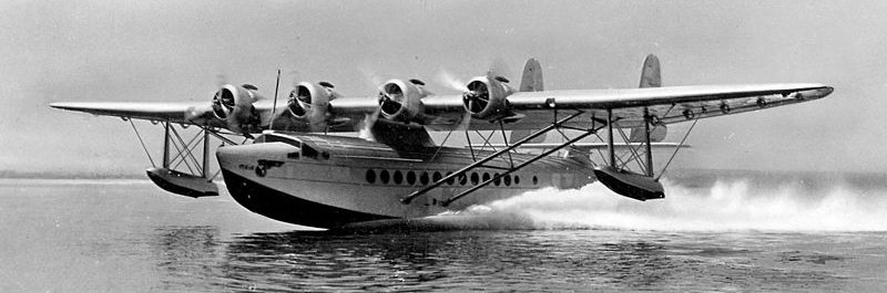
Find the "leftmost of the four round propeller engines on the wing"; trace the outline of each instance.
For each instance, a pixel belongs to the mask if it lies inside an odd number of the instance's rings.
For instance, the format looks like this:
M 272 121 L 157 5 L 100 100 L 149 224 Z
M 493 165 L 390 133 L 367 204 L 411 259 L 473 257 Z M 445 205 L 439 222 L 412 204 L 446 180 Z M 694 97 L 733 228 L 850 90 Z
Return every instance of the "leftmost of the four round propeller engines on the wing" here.
M 258 115 L 253 103 L 262 98 L 253 85 L 226 84 L 213 95 L 213 115 L 222 119 L 235 133 L 255 133 L 258 129 Z

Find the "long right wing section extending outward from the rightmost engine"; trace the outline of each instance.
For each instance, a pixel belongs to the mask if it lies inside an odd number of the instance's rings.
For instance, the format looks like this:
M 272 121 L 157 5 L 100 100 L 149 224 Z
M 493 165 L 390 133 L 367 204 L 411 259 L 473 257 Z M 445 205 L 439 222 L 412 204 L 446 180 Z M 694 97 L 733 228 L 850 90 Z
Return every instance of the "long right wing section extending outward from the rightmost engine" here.
M 554 109 L 579 109 L 603 119 L 611 109 L 614 126 L 638 127 L 643 126 L 645 109 L 654 121 L 671 124 L 813 101 L 833 91 L 823 84 L 750 84 L 519 92 L 507 98 L 517 113 L 527 115 L 519 128 L 550 124 Z

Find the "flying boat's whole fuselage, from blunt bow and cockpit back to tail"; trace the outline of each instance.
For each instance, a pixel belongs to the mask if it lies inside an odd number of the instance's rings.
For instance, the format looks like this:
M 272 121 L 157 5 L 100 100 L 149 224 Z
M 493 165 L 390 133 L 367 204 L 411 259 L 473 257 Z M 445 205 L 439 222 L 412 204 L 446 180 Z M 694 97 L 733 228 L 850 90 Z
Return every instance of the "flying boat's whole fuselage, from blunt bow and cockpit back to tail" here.
M 473 158 L 490 151 L 473 150 Z M 248 210 L 284 222 L 336 228 L 351 222 L 420 218 L 461 210 L 543 187 L 578 188 L 594 181 L 590 166 L 543 158 L 476 193 L 443 206 L 497 168 L 478 168 L 411 201 L 400 199 L 473 161 L 472 150 L 451 147 L 397 150 L 361 138 L 266 134 L 256 143 L 217 150 L 232 197 Z M 531 156 L 512 154 L 489 165 L 508 167 Z

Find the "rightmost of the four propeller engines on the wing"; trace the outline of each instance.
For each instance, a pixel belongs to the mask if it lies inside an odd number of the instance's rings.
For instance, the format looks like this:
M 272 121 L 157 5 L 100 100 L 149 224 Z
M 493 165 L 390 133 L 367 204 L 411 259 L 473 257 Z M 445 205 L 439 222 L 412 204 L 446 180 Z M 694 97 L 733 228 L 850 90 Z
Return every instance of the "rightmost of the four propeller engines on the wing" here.
M 468 82 L 462 94 L 462 105 L 472 118 L 496 121 L 513 115 L 507 97 L 514 90 L 501 76 L 478 76 Z

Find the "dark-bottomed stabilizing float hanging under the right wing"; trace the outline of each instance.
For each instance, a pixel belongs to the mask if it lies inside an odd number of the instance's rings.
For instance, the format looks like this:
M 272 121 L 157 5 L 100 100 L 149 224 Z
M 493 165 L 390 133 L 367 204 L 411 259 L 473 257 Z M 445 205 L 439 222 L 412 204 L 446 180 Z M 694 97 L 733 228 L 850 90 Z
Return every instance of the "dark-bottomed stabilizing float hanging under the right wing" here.
M 598 181 L 601 181 L 606 188 L 610 188 L 610 190 L 613 190 L 613 192 L 620 196 L 640 201 L 665 198 L 662 184 L 652 177 L 606 166 L 595 167 L 594 176 L 598 178 Z

